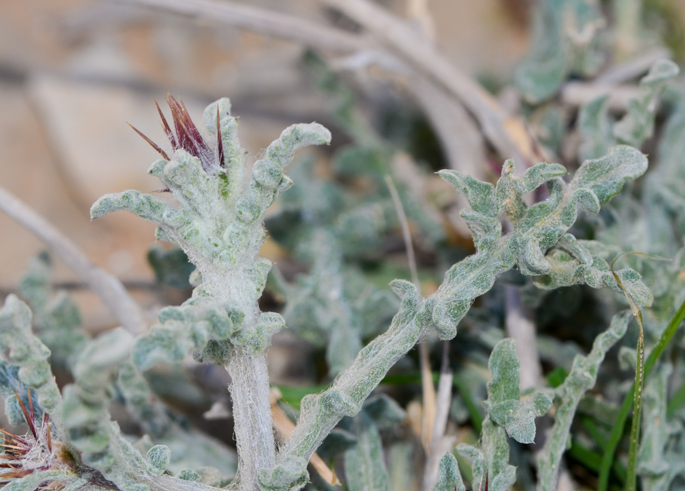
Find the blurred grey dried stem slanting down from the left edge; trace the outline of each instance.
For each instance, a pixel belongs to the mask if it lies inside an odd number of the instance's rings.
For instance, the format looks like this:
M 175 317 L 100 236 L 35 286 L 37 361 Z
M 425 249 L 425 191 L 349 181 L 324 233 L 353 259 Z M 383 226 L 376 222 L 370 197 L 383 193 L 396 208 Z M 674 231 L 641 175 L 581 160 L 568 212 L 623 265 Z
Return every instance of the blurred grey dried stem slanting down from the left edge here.
M 131 333 L 145 330 L 145 320 L 138 304 L 128 294 L 121 282 L 97 267 L 62 232 L 53 227 L 32 208 L 6 189 L 0 188 L 0 210 L 18 224 L 32 232 L 38 239 L 71 268 L 110 309 L 121 326 Z

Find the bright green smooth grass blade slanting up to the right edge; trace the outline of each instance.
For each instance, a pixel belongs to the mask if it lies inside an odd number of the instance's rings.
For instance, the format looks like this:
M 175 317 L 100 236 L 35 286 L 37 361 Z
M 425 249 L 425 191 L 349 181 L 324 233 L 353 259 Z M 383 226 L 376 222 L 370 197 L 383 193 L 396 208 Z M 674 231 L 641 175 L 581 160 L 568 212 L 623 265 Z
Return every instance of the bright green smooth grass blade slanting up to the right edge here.
M 680 309 L 677 310 L 669 325 L 664 329 L 664 332 L 659 337 L 659 341 L 653 350 L 649 353 L 647 361 L 645 361 L 645 374 L 646 377 L 653 368 L 656 361 L 661 356 L 666 346 L 671 342 L 675 331 L 680 326 L 680 323 L 685 319 L 685 302 L 680 305 Z M 632 385 L 628 390 L 625 398 L 623 399 L 623 404 L 619 410 L 618 416 L 616 416 L 616 422 L 611 430 L 611 435 L 609 441 L 606 444 L 604 450 L 604 455 L 601 461 L 601 468 L 599 470 L 599 482 L 597 483 L 597 491 L 606 491 L 609 484 L 609 475 L 611 472 L 612 464 L 614 462 L 614 453 L 616 453 L 616 446 L 619 445 L 621 437 L 623 436 L 623 428 L 625 427 L 625 422 L 628 419 L 628 414 L 630 414 L 630 409 L 633 405 L 635 385 Z

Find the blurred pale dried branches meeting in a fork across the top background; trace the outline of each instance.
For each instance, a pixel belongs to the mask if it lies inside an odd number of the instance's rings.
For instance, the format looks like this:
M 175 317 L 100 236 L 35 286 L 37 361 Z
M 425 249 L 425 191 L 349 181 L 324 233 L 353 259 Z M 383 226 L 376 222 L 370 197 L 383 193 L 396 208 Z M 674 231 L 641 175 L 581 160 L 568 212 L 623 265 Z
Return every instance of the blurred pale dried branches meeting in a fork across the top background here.
M 356 53 L 377 49 L 372 40 L 336 27 L 316 25 L 295 16 L 215 0 L 115 0 L 160 10 L 211 19 L 266 36 L 276 36 L 317 49 L 336 53 Z M 364 0 L 322 0 L 364 25 L 397 49 L 419 70 L 456 95 L 479 121 L 488 140 L 501 156 L 520 158 L 530 166 L 544 157 L 520 119 L 511 117 L 484 88 L 458 71 L 425 40 L 400 19 Z

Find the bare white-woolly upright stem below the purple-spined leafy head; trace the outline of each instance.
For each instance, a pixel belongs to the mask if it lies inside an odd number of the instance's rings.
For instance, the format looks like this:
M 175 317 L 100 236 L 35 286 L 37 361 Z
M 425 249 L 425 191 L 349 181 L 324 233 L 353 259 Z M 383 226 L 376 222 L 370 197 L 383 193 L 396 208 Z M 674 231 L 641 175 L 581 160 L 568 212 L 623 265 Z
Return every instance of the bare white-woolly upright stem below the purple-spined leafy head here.
M 252 355 L 236 349 L 225 366 L 231 376 L 234 432 L 238 448 L 238 489 L 259 489 L 258 470 L 275 463 L 273 416 L 266 353 Z

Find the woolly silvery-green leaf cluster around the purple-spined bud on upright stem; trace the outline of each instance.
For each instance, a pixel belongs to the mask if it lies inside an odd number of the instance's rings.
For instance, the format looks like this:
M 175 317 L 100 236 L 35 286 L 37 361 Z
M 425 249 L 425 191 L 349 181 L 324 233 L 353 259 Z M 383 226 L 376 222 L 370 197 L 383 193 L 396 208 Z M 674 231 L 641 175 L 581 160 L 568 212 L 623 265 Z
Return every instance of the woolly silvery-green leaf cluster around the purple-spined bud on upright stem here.
M 178 106 L 170 102 L 173 104 Z M 188 117 L 184 110 L 181 114 Z M 221 134 L 222 162 L 214 161 L 214 156 L 208 163 L 206 155 L 194 156 L 177 149 L 168 160 L 158 160 L 150 167 L 150 173 L 171 191 L 176 206 L 129 190 L 105 195 L 91 208 L 93 218 L 128 210 L 153 221 L 158 225 L 158 237 L 182 248 L 197 267 L 196 276 L 202 278 L 195 298 L 173 315 L 160 318 L 161 324 L 136 345 L 136 363 L 146 368 L 160 361 L 182 359 L 189 350 L 196 350 L 198 359 L 225 361 L 219 358 L 230 350 L 221 343 L 234 334 L 241 352 L 255 353 L 269 344 L 283 322 L 277 314 L 258 312 L 257 301 L 271 269 L 270 261 L 258 257 L 265 237 L 263 215 L 277 195 L 292 184 L 284 170 L 297 149 L 328 143 L 331 138 L 330 132 L 316 123 L 286 128 L 254 163 L 246 184 L 242 178 L 246 174 L 245 152 L 238 144 L 238 124 L 230 116 L 228 99 L 210 104 L 205 119 L 210 134 L 217 130 Z M 247 322 L 228 322 L 228 309 L 247 315 Z

